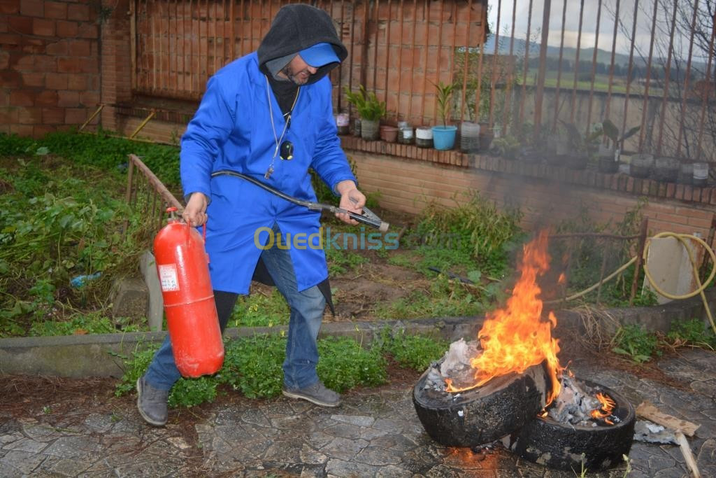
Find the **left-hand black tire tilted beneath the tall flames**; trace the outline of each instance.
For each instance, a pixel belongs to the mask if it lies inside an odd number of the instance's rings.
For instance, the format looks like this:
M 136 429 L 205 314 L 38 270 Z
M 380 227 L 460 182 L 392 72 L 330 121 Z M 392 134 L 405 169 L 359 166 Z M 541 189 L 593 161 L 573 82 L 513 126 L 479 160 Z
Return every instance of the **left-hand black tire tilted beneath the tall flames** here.
M 520 429 L 545 405 L 542 366 L 495 377 L 485 386 L 460 393 L 427 383 L 430 369 L 415 384 L 412 403 L 430 438 L 446 446 L 478 446 Z

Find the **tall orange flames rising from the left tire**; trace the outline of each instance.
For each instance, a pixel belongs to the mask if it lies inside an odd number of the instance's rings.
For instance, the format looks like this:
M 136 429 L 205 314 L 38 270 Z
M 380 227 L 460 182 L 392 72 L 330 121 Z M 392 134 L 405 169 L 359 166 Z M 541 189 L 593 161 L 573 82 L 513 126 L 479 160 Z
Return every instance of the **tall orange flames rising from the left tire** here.
M 542 231 L 523 248 L 521 277 L 507 305 L 504 309 L 488 313 L 478 333 L 483 352 L 470 360 L 475 369 L 475 385 L 457 389 L 446 381 L 447 391 L 458 392 L 483 386 L 494 377 L 511 372 L 523 373 L 532 365 L 546 361 L 552 382 L 547 404 L 558 396 L 561 388 L 559 376 L 563 368 L 557 359 L 559 345 L 551 333 L 557 320 L 552 312 L 548 321 L 541 320 L 542 301 L 538 299 L 541 289 L 536 283 L 538 274 L 544 274 L 548 268 L 547 232 Z

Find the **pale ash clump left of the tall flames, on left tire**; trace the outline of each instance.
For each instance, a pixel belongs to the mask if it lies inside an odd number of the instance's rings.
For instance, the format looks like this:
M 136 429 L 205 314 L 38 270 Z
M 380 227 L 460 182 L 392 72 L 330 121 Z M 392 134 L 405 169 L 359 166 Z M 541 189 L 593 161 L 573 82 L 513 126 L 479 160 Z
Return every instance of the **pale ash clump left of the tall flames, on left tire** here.
M 469 387 L 475 383 L 475 369 L 470 366 L 470 359 L 479 353 L 477 340 L 465 342 L 461 338 L 451 343 L 445 355 L 430 365 L 424 388 L 445 392 L 445 378 L 450 378 L 458 388 Z

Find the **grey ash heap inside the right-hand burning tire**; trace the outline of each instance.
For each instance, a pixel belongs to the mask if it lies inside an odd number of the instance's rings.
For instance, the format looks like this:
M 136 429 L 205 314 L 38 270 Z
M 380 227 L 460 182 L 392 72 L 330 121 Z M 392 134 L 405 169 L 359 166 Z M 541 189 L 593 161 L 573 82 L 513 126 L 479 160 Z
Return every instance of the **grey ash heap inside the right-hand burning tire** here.
M 572 425 L 598 426 L 591 417 L 592 410 L 601 408 L 601 403 L 594 397 L 596 391 L 574 377 L 562 376 L 561 383 L 559 395 L 547 409 L 549 418 Z M 616 416 L 610 419 L 619 421 Z

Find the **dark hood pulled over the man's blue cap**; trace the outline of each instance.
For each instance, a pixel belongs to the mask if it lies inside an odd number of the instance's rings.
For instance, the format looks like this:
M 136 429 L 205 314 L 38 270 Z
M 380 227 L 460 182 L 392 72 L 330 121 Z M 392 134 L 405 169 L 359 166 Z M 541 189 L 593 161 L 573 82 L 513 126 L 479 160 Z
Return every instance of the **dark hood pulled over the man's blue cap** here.
M 266 67 L 266 62 L 297 54 L 316 43 L 332 44 L 341 61 L 348 56 L 348 50 L 338 38 L 333 20 L 326 11 L 306 4 L 283 6 L 258 47 L 258 68 L 265 75 L 270 76 L 271 72 Z M 320 80 L 337 66 L 337 63 L 324 64 L 315 75 L 311 75 L 309 83 Z

